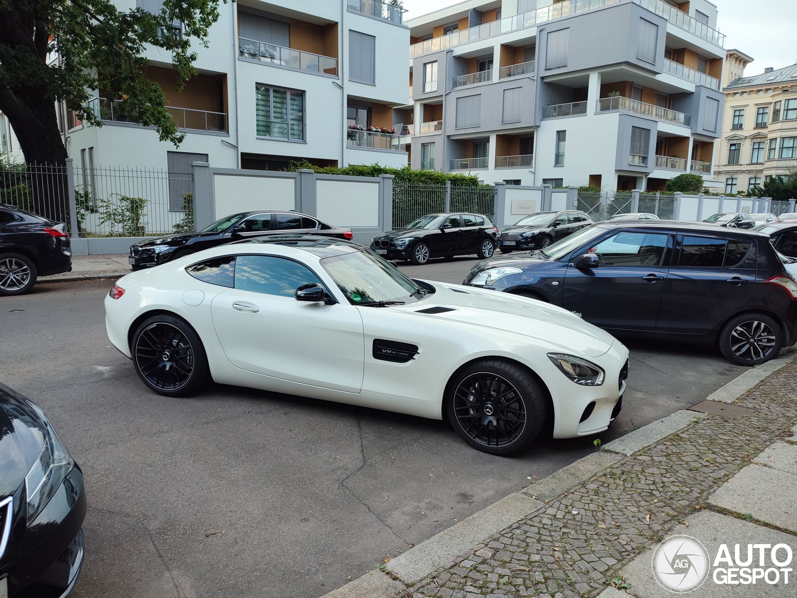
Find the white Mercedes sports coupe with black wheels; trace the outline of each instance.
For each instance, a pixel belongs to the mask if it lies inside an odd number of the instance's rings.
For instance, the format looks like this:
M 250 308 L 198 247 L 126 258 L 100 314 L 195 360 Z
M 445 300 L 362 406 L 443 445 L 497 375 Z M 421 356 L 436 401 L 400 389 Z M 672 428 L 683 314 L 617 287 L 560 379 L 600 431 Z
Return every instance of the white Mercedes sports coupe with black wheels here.
M 565 309 L 414 281 L 353 242 L 250 239 L 120 278 L 108 338 L 162 395 L 209 378 L 450 419 L 509 454 L 546 420 L 555 438 L 606 430 L 628 350 Z

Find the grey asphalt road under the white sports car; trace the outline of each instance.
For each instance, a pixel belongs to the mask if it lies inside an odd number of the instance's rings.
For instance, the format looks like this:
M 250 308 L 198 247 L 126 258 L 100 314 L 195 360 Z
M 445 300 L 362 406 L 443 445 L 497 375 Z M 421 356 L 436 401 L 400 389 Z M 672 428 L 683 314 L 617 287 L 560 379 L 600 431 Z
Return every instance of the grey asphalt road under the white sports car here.
M 460 282 L 473 263 L 406 272 Z M 163 398 L 108 343 L 110 285 L 0 299 L 0 381 L 45 409 L 84 469 L 74 596 L 315 598 L 593 450 L 548 439 L 498 458 L 446 423 L 220 385 Z M 740 373 L 712 349 L 626 344 L 630 390 L 603 442 Z

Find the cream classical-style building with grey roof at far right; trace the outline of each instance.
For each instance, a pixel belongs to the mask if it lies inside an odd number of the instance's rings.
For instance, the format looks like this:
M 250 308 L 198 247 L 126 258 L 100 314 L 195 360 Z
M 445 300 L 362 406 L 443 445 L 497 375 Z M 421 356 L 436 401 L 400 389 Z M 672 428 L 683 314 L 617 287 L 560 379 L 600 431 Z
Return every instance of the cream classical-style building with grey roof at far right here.
M 729 49 L 714 176 L 725 193 L 749 191 L 797 168 L 797 64 L 744 77 L 752 58 Z

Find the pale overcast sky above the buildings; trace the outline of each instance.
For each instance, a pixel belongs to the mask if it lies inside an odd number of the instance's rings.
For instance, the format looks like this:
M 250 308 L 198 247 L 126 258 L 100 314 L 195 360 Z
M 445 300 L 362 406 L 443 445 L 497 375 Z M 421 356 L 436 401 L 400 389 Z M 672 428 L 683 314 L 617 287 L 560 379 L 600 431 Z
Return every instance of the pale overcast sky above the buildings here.
M 414 18 L 457 0 L 403 0 L 407 17 Z M 744 74 L 764 73 L 797 62 L 797 0 L 713 0 L 725 48 L 736 48 L 755 59 Z

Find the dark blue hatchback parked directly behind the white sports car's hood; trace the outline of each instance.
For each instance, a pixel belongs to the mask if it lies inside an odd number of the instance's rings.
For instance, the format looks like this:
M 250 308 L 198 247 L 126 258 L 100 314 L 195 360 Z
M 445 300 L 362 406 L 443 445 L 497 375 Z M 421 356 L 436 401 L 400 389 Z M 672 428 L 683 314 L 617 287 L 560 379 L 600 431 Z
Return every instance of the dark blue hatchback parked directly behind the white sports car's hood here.
M 547 301 L 618 336 L 718 344 L 755 365 L 795 344 L 797 282 L 766 234 L 700 223 L 603 222 L 465 285 Z

